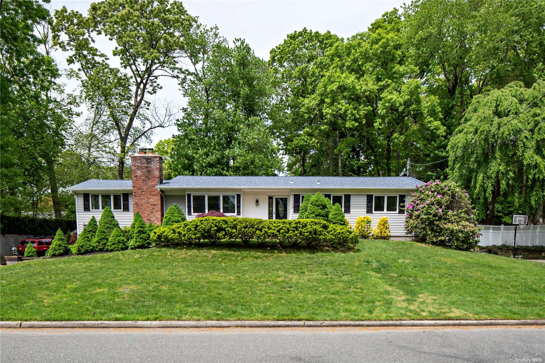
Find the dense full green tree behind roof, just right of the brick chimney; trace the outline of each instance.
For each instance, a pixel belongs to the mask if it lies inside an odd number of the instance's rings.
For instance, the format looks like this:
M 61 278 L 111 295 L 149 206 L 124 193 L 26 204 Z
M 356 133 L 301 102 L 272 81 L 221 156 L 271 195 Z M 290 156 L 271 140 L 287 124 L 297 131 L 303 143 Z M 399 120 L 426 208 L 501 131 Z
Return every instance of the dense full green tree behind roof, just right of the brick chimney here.
M 189 101 L 170 155 L 173 176 L 273 175 L 281 167 L 268 126 L 266 64 L 244 40 L 199 28 L 180 83 Z

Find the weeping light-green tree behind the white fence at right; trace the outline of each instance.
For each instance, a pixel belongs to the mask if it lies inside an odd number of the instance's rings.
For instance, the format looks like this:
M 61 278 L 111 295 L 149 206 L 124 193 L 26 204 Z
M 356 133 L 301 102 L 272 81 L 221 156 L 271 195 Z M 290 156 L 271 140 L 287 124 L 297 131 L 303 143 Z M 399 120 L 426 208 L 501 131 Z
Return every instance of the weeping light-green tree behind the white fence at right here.
M 545 81 L 538 81 L 475 97 L 449 142 L 449 175 L 469 190 L 487 224 L 500 195 L 513 195 L 519 213 L 543 219 L 544 95 Z

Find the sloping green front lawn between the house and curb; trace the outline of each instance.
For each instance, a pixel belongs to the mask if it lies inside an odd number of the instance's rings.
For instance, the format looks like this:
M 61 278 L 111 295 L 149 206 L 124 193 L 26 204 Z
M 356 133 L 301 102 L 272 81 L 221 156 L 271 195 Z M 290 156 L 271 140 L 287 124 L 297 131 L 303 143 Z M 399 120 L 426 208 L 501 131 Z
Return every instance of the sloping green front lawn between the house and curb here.
M 158 247 L 0 269 L 1 320 L 543 319 L 545 264 L 403 241 Z

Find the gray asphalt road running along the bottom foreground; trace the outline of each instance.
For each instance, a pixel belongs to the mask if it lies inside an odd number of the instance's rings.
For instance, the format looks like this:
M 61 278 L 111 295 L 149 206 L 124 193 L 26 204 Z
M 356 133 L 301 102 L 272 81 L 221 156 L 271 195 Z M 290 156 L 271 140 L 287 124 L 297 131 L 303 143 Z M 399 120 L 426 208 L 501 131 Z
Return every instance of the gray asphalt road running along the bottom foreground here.
M 544 327 L 0 330 L 2 363 L 496 363 L 532 358 L 545 362 Z

